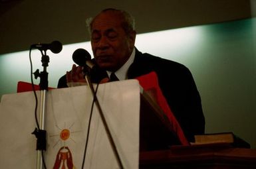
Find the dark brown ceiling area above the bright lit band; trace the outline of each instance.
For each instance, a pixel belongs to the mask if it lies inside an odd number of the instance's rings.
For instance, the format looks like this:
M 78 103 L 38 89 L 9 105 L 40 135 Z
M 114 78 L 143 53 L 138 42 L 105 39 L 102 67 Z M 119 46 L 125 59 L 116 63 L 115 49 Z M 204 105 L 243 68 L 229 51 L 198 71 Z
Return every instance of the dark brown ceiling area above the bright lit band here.
M 134 15 L 138 33 L 250 18 L 255 0 L 1 0 L 0 54 L 36 42 L 89 40 L 85 20 L 114 7 Z

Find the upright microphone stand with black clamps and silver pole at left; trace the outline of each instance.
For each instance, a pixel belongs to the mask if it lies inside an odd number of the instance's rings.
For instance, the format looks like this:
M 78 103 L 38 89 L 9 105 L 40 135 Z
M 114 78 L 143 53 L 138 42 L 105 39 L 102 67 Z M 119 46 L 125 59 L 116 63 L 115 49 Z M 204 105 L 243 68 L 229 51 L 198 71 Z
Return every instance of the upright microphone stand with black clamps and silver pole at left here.
M 46 95 L 48 90 L 48 73 L 47 73 L 47 66 L 49 64 L 49 56 L 46 55 L 46 50 L 44 51 L 45 54 L 42 53 L 42 66 L 43 72 L 39 73 L 37 69 L 34 72 L 35 79 L 40 77 L 40 91 L 41 91 L 41 99 L 40 99 L 40 113 L 39 113 L 39 129 L 35 129 L 33 134 L 37 137 L 37 169 L 43 168 L 43 150 L 46 150 L 46 131 L 45 129 L 45 114 L 46 114 Z

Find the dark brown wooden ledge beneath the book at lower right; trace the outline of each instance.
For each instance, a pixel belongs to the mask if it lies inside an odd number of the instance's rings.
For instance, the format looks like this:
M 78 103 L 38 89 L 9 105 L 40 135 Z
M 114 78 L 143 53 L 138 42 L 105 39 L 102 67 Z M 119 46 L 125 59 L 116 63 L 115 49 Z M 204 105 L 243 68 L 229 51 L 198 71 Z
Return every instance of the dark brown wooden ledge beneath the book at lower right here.
M 256 168 L 256 150 L 216 143 L 140 152 L 140 169 Z

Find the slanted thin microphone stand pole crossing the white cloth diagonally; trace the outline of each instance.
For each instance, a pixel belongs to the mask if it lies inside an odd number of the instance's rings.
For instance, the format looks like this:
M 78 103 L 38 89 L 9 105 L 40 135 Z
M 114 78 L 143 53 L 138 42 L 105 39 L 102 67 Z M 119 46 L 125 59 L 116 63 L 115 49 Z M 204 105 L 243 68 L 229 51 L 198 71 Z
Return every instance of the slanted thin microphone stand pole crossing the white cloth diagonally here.
M 92 95 L 94 96 L 94 100 L 95 103 L 96 103 L 96 106 L 98 107 L 98 111 L 100 113 L 100 118 L 102 119 L 102 123 L 103 123 L 103 126 L 104 126 L 104 129 L 106 130 L 106 135 L 108 136 L 108 140 L 110 141 L 110 145 L 112 147 L 112 150 L 114 151 L 114 155 L 116 156 L 116 159 L 118 161 L 118 164 L 120 166 L 120 168 L 124 168 L 123 164 L 122 164 L 122 160 L 120 158 L 120 155 L 118 154 L 118 150 L 116 148 L 116 144 L 114 143 L 114 139 L 110 133 L 110 129 L 108 128 L 108 124 L 106 123 L 106 119 L 104 117 L 104 114 L 103 114 L 103 111 L 100 107 L 100 103 L 98 102 L 98 98 L 95 94 L 95 90 L 94 90 L 94 87 L 92 85 L 92 82 L 90 82 L 90 77 L 88 76 L 88 71 L 85 71 L 85 80 L 86 80 L 86 83 L 89 85 L 90 87 L 90 91 L 92 91 Z

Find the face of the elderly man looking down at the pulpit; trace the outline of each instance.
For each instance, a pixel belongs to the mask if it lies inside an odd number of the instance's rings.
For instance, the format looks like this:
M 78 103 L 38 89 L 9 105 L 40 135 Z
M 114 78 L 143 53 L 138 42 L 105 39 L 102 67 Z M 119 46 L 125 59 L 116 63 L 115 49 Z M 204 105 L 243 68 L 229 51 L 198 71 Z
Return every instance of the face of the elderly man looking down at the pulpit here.
M 104 70 L 118 70 L 134 48 L 135 32 L 126 34 L 121 23 L 118 14 L 111 11 L 101 13 L 92 23 L 92 52 L 96 63 Z

